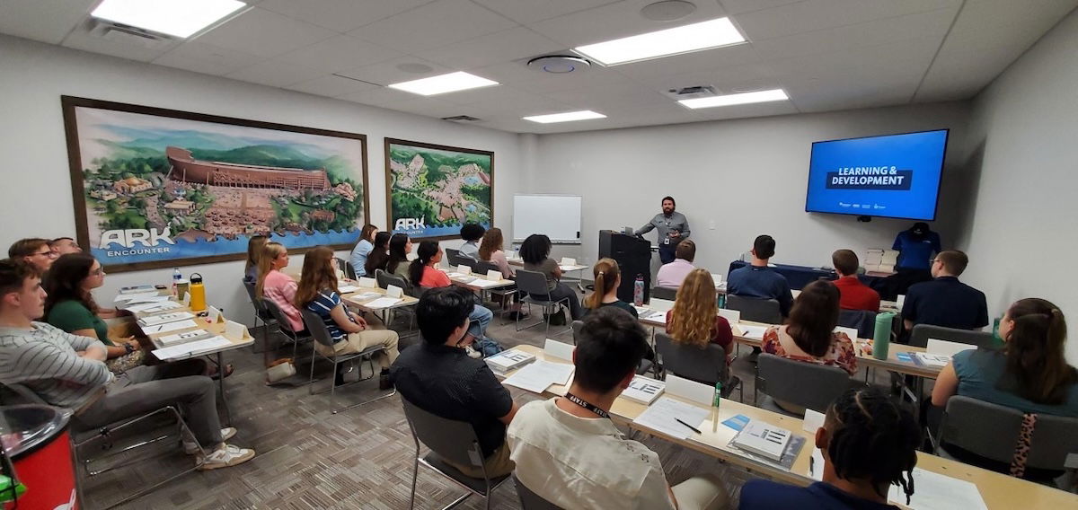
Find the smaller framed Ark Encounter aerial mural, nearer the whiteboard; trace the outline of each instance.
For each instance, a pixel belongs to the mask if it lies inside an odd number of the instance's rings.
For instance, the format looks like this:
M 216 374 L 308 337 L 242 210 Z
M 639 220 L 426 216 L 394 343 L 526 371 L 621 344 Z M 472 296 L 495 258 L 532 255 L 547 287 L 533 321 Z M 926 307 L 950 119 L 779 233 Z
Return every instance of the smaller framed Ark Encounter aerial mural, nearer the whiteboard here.
M 386 218 L 417 239 L 494 220 L 494 152 L 386 138 Z

